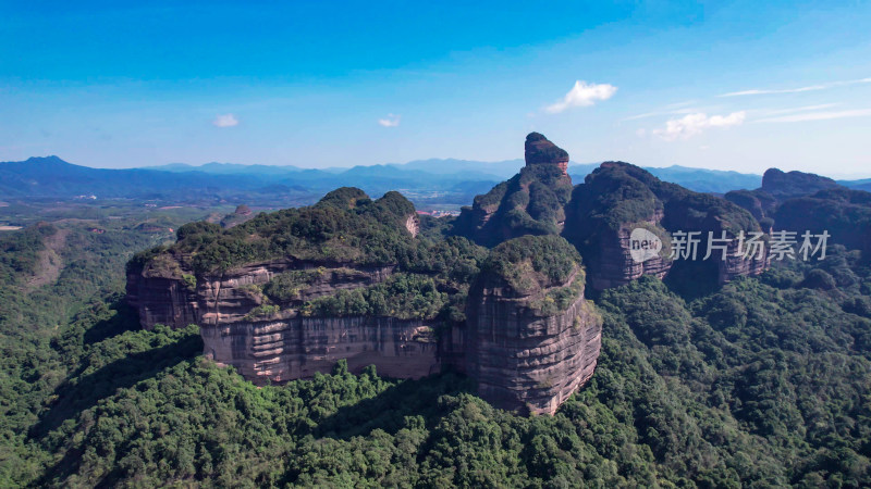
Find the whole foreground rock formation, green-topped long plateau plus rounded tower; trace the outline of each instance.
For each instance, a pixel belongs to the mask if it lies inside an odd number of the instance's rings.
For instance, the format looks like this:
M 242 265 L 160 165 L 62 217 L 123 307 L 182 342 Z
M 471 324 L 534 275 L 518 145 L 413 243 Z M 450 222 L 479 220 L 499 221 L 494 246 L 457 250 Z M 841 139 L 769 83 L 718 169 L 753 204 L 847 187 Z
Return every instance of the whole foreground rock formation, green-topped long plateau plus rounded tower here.
M 398 378 L 453 368 L 498 406 L 552 414 L 589 379 L 601 319 L 567 241 L 507 241 L 473 279 L 487 250 L 463 238 L 425 246 L 407 200 L 360 193 L 232 229 L 185 225 L 175 246 L 131 262 L 127 301 L 145 328 L 197 324 L 204 354 L 256 384 L 329 373 L 342 359 Z M 533 255 L 505 258 L 508 248 Z M 554 264 L 557 274 L 542 272 Z M 528 274 L 507 280 L 506 269 Z

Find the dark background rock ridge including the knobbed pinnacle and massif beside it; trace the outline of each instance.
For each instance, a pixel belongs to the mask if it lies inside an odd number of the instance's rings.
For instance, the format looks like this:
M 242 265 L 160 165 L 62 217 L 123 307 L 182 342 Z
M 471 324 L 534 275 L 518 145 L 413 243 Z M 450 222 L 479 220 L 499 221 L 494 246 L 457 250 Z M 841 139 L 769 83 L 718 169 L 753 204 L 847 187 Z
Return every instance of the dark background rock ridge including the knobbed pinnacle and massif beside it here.
M 525 156 L 526 166 L 519 174 L 463 209 L 453 233 L 488 247 L 525 235 L 561 235 L 584 255 L 589 285 L 596 290 L 618 287 L 642 275 L 666 277 L 675 265 L 668 246 L 672 231 L 701 233 L 704 255 L 709 231 L 716 238 L 723 231 L 735 238 L 740 231 L 761 230 L 757 218 L 765 230 L 771 227 L 770 220 L 763 218 L 771 211 L 764 198 L 736 197 L 753 201 L 759 208 L 755 218 L 739 205 L 662 181 L 628 163 L 602 163 L 582 184 L 572 187 L 566 175 L 568 153 L 538 133 L 527 136 Z M 633 258 L 631 236 L 638 228 L 663 243 L 661 252 L 643 260 Z M 731 254 L 721 260 L 722 255 L 714 249 L 709 263 L 684 263 L 678 268 L 722 284 L 739 275 L 757 275 L 769 266 L 766 255 Z

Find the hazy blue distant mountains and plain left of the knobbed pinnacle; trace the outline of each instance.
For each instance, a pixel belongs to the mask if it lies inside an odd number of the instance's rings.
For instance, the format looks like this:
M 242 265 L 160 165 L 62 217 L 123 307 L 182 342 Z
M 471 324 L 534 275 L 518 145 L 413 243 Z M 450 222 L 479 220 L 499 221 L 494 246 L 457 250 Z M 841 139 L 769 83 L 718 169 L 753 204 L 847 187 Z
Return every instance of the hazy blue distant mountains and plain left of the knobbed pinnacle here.
M 262 168 L 269 170 L 262 173 Z M 93 195 L 97 198 L 187 202 L 229 200 L 286 206 L 311 203 L 326 191 L 353 185 L 373 196 L 401 189 L 417 202 L 438 197 L 441 202 L 459 204 L 498 181 L 478 173 L 433 175 L 414 170 L 398 171 L 387 165 L 356 166 L 342 173 L 283 168 L 285 173 L 263 165 L 218 163 L 204 166 L 174 164 L 168 170 L 107 170 L 75 165 L 58 156 L 30 158 L 0 163 L 0 196 L 75 198 Z

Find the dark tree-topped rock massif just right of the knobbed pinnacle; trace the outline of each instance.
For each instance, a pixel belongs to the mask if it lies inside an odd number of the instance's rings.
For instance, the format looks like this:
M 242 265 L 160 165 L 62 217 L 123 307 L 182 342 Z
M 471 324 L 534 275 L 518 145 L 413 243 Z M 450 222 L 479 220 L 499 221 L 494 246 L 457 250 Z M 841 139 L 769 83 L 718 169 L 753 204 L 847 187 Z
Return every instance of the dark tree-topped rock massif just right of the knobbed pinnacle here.
M 741 256 L 737 237 L 761 230 L 757 221 L 734 203 L 660 180 L 623 162 L 605 162 L 575 187 L 566 210 L 563 235 L 588 263 L 590 285 L 598 290 L 621 286 L 641 275 L 666 277 L 674 267 L 699 283 L 723 284 L 739 275 L 758 275 L 769 265 L 766 252 Z M 633 256 L 630 236 L 650 233 L 662 248 L 639 261 Z M 695 259 L 677 255 L 672 236 L 697 231 Z M 725 258 L 709 237 L 728 240 Z M 717 241 L 712 241 L 717 244 Z M 676 244 L 676 243 L 675 243 Z

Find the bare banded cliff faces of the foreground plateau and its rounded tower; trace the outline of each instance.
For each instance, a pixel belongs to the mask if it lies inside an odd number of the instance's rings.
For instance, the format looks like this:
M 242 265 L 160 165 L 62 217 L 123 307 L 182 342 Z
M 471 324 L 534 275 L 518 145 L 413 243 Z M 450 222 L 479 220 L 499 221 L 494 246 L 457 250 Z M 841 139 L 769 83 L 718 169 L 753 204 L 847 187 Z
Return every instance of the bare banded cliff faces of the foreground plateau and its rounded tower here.
M 377 301 L 353 293 L 408 274 L 396 265 L 292 256 L 200 274 L 191 291 L 184 277 L 143 276 L 172 268 L 159 254 L 142 268 L 131 267 L 127 300 L 146 328 L 198 324 L 204 354 L 258 385 L 329 373 L 342 359 L 352 372 L 375 365 L 397 378 L 451 367 L 476 378 L 480 396 L 494 405 L 552 414 L 590 378 L 601 344 L 601 319 L 584 299 L 580 256 L 562 238 L 527 236 L 503 243 L 487 260 L 495 264 L 471 287 L 465 321 L 324 315 L 312 304 L 340 297 L 331 308 L 364 297 Z M 403 293 L 414 281 L 398 284 L 394 290 Z

